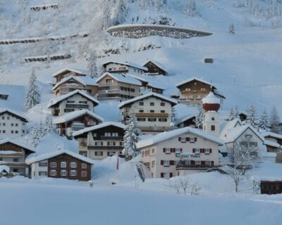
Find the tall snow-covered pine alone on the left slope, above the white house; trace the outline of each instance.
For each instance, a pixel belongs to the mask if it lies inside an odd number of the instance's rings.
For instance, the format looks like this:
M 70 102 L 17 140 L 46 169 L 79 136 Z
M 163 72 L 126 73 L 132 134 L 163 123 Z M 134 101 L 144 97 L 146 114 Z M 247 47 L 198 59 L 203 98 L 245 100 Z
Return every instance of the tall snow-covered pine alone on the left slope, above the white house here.
M 27 84 L 27 90 L 25 94 L 25 110 L 30 110 L 33 106 L 40 103 L 40 92 L 37 86 L 37 77 L 35 75 L 35 70 L 32 69 L 32 74 Z

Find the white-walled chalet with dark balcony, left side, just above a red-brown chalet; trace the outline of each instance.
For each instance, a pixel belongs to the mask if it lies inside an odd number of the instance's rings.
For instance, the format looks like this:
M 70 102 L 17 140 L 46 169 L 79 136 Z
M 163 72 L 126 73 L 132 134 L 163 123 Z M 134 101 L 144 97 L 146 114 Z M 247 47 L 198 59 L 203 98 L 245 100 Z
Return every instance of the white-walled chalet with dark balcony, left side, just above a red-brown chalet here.
M 75 90 L 68 94 L 53 98 L 48 108 L 51 108 L 52 115 L 61 116 L 71 113 L 75 110 L 87 109 L 93 111 L 93 108 L 99 104 L 99 101 L 86 94 L 85 91 Z

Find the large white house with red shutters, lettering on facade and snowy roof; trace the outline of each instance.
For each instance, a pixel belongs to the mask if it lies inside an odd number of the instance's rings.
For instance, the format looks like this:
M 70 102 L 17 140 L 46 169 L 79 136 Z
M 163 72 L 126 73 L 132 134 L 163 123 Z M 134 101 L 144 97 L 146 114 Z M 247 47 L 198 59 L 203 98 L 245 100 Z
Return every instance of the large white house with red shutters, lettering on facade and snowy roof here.
M 137 148 L 152 177 L 169 178 L 218 166 L 219 146 L 223 144 L 217 136 L 201 129 L 184 127 L 142 139 Z

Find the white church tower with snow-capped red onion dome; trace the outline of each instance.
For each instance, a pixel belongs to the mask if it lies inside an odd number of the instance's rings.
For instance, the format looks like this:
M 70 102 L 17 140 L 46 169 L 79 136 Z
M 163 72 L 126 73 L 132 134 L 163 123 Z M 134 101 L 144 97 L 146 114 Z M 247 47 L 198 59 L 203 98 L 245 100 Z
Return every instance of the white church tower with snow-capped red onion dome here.
M 203 129 L 204 131 L 219 136 L 219 108 L 220 99 L 214 96 L 211 91 L 209 94 L 202 99 L 202 105 L 204 108 L 204 121 Z

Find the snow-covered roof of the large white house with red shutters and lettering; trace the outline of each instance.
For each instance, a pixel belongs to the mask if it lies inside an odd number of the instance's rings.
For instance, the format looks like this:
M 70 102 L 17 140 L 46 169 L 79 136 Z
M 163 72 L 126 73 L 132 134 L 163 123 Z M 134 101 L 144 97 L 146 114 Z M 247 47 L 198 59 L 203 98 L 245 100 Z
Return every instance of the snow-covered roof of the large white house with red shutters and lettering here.
M 167 139 L 172 139 L 175 136 L 179 136 L 179 135 L 186 134 L 186 133 L 194 134 L 196 136 L 200 136 L 200 137 L 207 139 L 209 141 L 212 141 L 214 143 L 218 143 L 219 146 L 224 145 L 224 142 L 221 139 L 219 139 L 217 136 L 209 134 L 209 133 L 203 131 L 202 129 L 184 127 L 184 128 L 180 128 L 180 129 L 175 129 L 173 131 L 165 131 L 161 134 L 157 134 L 157 135 L 152 136 L 148 139 L 142 139 L 141 141 L 137 142 L 137 148 L 144 148 L 144 147 L 147 147 L 147 146 L 152 146 L 156 143 L 166 141 Z

